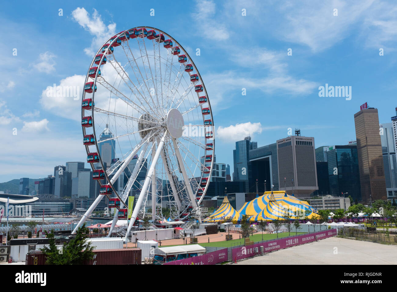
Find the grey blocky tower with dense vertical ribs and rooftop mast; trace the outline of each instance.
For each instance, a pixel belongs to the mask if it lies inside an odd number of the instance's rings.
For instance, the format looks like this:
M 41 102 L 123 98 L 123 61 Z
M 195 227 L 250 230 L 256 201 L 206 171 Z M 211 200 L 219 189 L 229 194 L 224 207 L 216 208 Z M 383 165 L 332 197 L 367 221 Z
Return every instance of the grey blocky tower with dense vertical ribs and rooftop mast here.
M 318 190 L 314 137 L 295 136 L 277 140 L 279 190 L 310 197 Z

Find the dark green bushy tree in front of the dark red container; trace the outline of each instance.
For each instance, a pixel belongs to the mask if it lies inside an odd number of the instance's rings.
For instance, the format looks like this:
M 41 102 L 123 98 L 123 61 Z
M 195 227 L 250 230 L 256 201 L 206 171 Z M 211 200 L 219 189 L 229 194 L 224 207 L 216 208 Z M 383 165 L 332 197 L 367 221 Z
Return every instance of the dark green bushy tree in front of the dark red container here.
M 50 241 L 50 248 L 45 246 L 40 250 L 47 257 L 46 265 L 82 265 L 85 261 L 93 259 L 93 250 L 96 247 L 91 246 L 91 242 L 87 243 L 86 229 L 88 228 L 83 224 L 77 230 L 75 238 L 68 244 L 65 243 L 61 250 L 56 248 L 54 230 L 50 233 L 45 231 Z

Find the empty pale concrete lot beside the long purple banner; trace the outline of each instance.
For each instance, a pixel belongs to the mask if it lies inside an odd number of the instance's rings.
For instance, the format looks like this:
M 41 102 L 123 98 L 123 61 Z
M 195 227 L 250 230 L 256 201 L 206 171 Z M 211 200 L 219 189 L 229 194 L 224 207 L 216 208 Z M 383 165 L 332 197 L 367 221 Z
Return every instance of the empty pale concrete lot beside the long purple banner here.
M 233 265 L 397 265 L 397 245 L 331 237 Z

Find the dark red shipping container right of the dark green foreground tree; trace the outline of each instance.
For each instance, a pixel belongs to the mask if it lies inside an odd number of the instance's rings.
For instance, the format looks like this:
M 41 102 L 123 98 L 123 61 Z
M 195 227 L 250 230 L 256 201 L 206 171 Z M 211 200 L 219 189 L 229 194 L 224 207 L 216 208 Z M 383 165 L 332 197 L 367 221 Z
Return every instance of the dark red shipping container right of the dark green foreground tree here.
M 94 259 L 84 265 L 140 265 L 142 250 L 140 248 L 94 250 Z

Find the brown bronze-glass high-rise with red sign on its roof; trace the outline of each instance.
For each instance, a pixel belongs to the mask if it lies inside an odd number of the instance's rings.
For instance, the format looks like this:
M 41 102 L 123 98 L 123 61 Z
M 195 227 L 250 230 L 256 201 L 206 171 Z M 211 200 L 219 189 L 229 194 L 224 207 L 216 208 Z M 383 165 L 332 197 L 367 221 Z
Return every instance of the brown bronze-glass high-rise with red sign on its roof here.
M 387 198 L 379 117 L 376 108 L 365 108 L 354 115 L 360 171 L 362 203 Z

